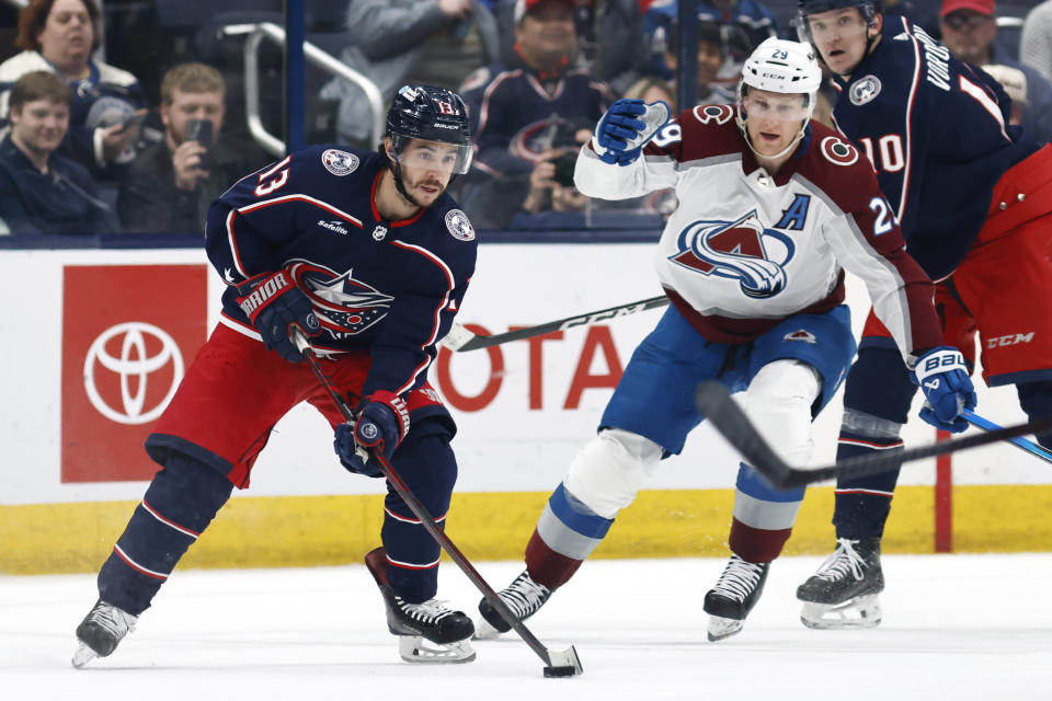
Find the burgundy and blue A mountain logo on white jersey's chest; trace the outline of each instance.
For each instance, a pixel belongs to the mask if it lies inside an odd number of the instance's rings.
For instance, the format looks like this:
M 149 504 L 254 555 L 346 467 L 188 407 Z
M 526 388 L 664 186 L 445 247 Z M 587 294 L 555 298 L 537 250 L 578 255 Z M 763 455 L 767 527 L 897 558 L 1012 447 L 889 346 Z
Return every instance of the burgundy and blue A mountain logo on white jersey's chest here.
M 774 297 L 786 288 L 785 266 L 796 245 L 764 227 L 752 210 L 736 221 L 695 221 L 679 233 L 679 252 L 668 260 L 708 277 L 737 279 L 746 297 Z

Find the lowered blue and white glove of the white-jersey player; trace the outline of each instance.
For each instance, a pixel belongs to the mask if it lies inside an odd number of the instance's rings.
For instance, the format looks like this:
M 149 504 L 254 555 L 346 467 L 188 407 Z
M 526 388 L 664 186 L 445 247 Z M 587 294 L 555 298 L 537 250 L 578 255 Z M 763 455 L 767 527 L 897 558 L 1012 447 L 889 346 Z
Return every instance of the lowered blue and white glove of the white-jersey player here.
M 927 400 L 921 418 L 952 434 L 968 428 L 961 410 L 975 409 L 976 398 L 960 350 L 947 346 L 928 350 L 917 360 L 913 381 L 921 386 Z

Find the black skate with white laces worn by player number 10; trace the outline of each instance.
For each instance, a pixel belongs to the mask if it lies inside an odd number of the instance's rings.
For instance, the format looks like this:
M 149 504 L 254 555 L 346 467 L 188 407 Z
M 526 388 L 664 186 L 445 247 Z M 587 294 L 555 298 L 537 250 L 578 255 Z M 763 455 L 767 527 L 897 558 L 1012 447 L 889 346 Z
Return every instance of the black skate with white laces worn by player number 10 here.
M 838 538 L 836 550 L 819 571 L 797 588 L 803 601 L 800 620 L 808 628 L 876 628 L 884 575 L 880 570 L 880 538 Z

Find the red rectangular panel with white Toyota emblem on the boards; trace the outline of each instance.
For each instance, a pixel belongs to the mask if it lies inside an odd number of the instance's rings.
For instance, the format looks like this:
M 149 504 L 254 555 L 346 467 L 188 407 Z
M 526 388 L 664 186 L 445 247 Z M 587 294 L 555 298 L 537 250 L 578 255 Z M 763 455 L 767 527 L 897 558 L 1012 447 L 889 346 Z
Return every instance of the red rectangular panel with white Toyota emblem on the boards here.
M 208 337 L 205 265 L 62 274 L 62 482 L 149 480 L 142 441 Z

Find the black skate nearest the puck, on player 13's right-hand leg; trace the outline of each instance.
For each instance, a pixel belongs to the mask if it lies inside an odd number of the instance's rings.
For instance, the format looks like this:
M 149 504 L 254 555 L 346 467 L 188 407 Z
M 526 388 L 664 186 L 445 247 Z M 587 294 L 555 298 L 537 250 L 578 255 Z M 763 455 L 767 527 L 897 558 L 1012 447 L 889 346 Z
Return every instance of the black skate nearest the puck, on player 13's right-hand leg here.
M 387 578 L 382 548 L 365 556 L 387 608 L 387 630 L 398 635 L 398 653 L 405 662 L 465 663 L 474 659 L 470 637 L 474 623 L 464 611 L 454 611 L 438 599 L 410 604 L 395 593 Z M 432 644 L 428 644 L 432 643 Z

